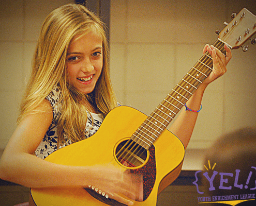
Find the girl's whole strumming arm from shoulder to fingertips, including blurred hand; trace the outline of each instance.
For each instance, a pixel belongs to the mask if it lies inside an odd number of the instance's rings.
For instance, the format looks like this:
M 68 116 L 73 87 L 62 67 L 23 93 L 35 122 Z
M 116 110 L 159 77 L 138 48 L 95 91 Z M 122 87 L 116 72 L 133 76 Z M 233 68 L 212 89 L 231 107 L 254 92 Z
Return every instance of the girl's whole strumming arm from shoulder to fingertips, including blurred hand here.
M 102 191 L 115 194 L 112 199 L 125 204 L 135 200 L 135 186 L 131 176 L 113 167 L 67 166 L 50 163 L 33 155 L 47 132 L 53 114 L 49 101 L 37 108 L 40 112 L 27 115 L 12 134 L 0 160 L 0 178 L 26 187 L 87 187 L 95 185 Z M 97 164 L 97 163 L 96 163 Z

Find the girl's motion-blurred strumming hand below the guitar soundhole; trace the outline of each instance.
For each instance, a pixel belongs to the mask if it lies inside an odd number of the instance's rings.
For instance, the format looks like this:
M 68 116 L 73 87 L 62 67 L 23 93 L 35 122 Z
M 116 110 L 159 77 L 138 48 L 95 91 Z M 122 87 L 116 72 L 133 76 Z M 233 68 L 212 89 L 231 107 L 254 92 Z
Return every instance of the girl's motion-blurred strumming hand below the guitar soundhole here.
M 135 200 L 143 200 L 142 176 L 109 165 L 95 166 L 94 169 L 95 178 L 91 185 L 108 194 L 110 199 L 126 205 L 132 205 Z

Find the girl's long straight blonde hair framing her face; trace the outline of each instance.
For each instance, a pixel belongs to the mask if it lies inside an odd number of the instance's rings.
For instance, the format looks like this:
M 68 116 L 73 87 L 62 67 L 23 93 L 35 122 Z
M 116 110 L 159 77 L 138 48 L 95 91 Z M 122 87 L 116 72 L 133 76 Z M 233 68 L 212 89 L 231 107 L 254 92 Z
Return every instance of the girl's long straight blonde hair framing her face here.
M 85 95 L 68 85 L 66 57 L 71 40 L 77 35 L 90 31 L 97 32 L 102 38 L 103 67 L 94 91 Z M 36 108 L 56 85 L 62 90 L 58 145 L 65 142 L 64 132 L 72 142 L 84 139 L 84 123 L 87 115 L 85 106 L 81 104 L 82 99 L 88 100 L 103 117 L 116 106 L 109 76 L 108 42 L 104 24 L 98 16 L 79 4 L 59 7 L 44 20 L 18 122 L 27 114 L 38 112 Z

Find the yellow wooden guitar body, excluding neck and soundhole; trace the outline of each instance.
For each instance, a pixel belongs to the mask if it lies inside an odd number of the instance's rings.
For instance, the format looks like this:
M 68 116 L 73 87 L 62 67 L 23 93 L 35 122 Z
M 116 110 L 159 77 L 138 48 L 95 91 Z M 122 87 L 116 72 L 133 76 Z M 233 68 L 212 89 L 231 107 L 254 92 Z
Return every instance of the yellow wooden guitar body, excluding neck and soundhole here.
M 99 130 L 93 136 L 56 150 L 45 160 L 77 166 L 110 163 L 125 171 L 127 167 L 122 166 L 116 160 L 115 149 L 118 143 L 129 139 L 146 118 L 145 114 L 133 108 L 117 107 L 104 118 Z M 131 169 L 131 173 L 143 175 L 143 182 L 145 180 L 149 182 L 144 182 L 144 200 L 134 203 L 138 206 L 156 205 L 157 195 L 179 175 L 185 148 L 174 134 L 165 129 L 147 153 L 149 155 L 145 163 L 141 167 Z M 44 188 L 31 189 L 31 194 L 37 206 L 124 205 L 113 202 L 114 200 L 111 199 L 108 202 L 102 202 L 107 198 L 103 197 L 101 201 L 89 194 L 87 192 L 89 190 L 92 191 L 91 189 L 85 190 L 85 188 Z

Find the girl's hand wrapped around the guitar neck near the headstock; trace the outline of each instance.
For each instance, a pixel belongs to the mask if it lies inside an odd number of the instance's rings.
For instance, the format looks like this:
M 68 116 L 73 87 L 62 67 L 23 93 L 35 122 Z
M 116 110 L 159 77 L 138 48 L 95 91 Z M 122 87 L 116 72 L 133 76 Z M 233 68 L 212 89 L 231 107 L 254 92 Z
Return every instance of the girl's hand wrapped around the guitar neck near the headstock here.
M 227 72 L 227 64 L 230 61 L 232 54 L 231 49 L 227 45 L 224 45 L 224 48 L 226 50 L 225 56 L 213 45 L 209 46 L 206 44 L 204 46 L 203 54 L 208 51 L 213 57 L 213 71 L 204 80 L 203 84 L 208 85 L 210 82 L 214 81 L 215 79 L 225 74 L 225 72 Z

